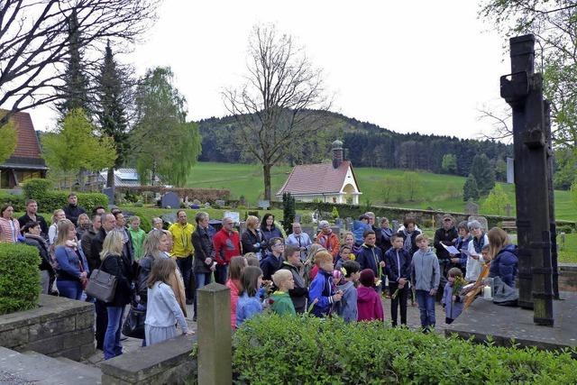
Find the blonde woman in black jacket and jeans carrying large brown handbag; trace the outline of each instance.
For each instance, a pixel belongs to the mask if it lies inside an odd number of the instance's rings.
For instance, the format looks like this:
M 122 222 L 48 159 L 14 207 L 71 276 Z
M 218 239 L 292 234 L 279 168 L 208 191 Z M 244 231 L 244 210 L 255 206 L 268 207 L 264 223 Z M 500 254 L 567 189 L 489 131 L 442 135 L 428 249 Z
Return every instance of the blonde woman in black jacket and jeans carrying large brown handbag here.
M 126 263 L 123 248 L 123 234 L 119 231 L 111 231 L 106 234 L 102 252 L 100 252 L 102 260 L 100 270 L 116 278 L 114 298 L 105 304 L 108 318 L 104 341 L 105 360 L 123 353 L 123 346 L 120 344 L 123 313 L 124 307 L 131 302 L 132 298 L 129 278 L 132 266 Z

